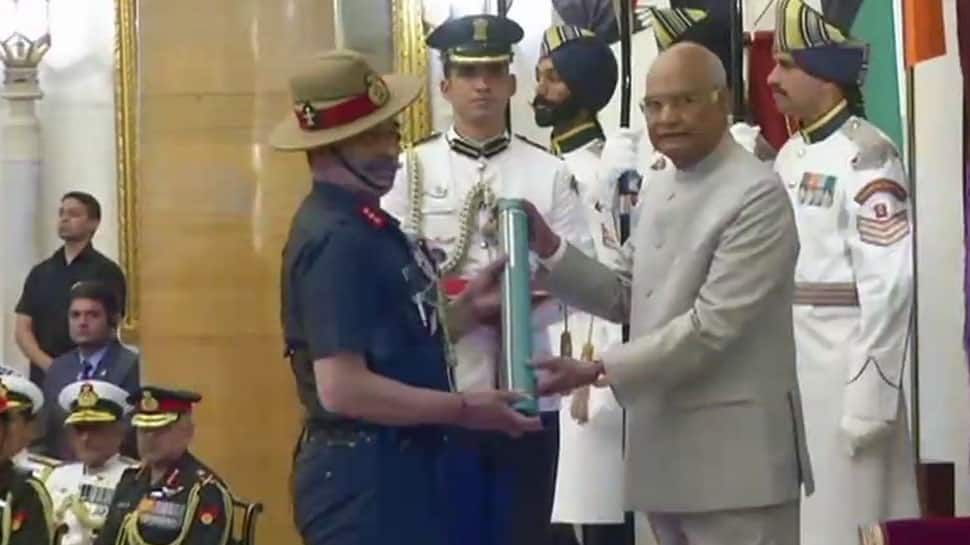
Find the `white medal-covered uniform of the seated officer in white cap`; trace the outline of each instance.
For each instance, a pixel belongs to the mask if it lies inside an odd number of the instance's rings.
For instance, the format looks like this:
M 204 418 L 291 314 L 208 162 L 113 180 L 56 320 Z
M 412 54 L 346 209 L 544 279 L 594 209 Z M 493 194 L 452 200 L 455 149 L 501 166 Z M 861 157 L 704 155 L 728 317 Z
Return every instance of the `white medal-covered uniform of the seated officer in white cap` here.
M 136 465 L 134 460 L 115 455 L 98 469 L 75 462 L 51 472 L 45 485 L 51 496 L 54 521 L 67 524 L 68 528 L 61 545 L 94 543 L 121 474 Z

